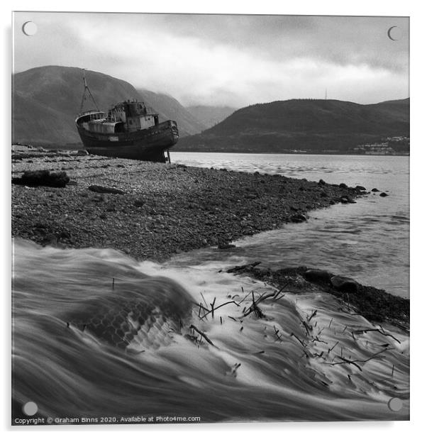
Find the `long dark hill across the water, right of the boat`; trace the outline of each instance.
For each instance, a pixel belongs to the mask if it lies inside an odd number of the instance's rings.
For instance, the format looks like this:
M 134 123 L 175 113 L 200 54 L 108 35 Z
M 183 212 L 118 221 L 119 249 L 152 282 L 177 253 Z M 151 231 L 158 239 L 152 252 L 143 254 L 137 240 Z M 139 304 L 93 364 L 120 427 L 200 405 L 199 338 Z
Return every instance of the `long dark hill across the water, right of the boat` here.
M 409 137 L 409 99 L 368 105 L 293 99 L 239 109 L 201 134 L 184 138 L 176 150 L 345 153 L 392 136 Z

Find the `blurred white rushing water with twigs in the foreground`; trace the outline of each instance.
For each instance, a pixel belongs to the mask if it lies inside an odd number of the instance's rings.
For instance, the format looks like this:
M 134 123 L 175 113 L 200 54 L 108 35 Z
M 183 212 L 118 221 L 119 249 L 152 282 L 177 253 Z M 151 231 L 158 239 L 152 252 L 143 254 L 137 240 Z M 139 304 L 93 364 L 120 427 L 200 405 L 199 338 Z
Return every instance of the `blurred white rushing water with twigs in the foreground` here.
M 279 293 L 218 272 L 221 262 L 13 247 L 17 406 L 35 402 L 54 418 L 409 418 L 409 337 L 369 331 L 378 326 L 331 295 Z M 263 293 L 274 295 L 259 304 L 265 317 L 244 316 Z M 394 397 L 400 411 L 388 407 Z

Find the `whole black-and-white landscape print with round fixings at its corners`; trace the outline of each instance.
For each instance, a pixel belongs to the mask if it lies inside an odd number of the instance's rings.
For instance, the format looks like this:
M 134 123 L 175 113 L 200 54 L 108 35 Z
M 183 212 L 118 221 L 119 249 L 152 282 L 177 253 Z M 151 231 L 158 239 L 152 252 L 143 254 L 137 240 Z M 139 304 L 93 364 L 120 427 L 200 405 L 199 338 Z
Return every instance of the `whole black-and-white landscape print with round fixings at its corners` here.
M 409 421 L 411 18 L 11 19 L 11 425 Z

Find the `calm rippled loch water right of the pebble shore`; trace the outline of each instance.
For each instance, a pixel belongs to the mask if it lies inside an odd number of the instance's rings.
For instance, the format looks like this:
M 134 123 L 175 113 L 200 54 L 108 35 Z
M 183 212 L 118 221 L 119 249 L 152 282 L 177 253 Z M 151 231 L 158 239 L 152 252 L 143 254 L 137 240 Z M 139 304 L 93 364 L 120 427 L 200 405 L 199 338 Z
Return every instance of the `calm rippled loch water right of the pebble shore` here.
M 409 157 L 172 153 L 172 160 L 197 167 L 344 182 L 389 194 L 369 194 L 356 204 L 313 211 L 306 223 L 245 238 L 233 250 L 211 248 L 179 255 L 176 262 L 222 260 L 235 265 L 256 260 L 275 268 L 321 267 L 409 297 Z

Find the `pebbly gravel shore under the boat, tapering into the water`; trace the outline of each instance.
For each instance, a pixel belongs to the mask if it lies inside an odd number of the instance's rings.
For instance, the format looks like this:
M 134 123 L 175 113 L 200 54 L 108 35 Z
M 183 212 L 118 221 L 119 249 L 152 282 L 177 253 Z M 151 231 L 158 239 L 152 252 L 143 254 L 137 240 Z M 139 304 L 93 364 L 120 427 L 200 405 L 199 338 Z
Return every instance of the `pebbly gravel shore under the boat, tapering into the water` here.
M 363 193 L 323 181 L 76 153 L 29 150 L 12 159 L 15 178 L 28 170 L 70 177 L 65 188 L 12 185 L 13 236 L 62 247 L 116 248 L 138 260 L 226 247 Z

